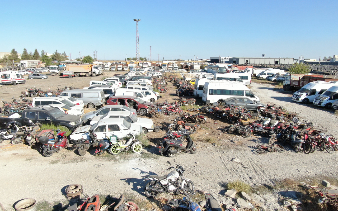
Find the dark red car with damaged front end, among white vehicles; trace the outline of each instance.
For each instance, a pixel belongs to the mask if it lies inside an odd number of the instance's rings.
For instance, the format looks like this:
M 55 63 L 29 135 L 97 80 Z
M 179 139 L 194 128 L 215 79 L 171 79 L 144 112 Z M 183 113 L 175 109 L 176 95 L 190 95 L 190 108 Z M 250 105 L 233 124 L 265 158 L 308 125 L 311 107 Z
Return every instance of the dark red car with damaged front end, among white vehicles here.
M 128 108 L 134 108 L 140 115 L 145 115 L 148 113 L 148 107 L 152 103 L 141 100 L 138 97 L 134 96 L 115 96 L 107 100 L 107 105 L 124 105 Z

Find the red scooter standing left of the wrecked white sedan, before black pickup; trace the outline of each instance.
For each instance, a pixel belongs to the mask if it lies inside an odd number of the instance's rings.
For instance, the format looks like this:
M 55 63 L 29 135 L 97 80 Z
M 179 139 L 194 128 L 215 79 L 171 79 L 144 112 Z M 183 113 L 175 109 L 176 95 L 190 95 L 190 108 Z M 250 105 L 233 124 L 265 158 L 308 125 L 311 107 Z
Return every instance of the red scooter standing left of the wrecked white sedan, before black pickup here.
M 66 132 L 61 132 L 60 129 L 57 129 L 56 132 L 57 134 L 54 138 L 50 139 L 49 135 L 39 138 L 39 142 L 41 143 L 39 151 L 45 157 L 50 157 L 54 152 L 60 151 L 69 145 L 69 140 L 65 135 Z

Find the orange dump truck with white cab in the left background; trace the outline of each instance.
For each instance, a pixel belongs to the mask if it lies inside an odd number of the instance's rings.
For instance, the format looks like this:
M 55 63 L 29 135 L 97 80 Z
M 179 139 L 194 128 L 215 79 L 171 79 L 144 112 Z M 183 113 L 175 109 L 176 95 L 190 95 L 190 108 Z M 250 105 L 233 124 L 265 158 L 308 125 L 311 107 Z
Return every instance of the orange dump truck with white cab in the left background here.
M 68 64 L 65 71 L 67 71 L 69 75 L 74 75 L 74 77 L 89 77 L 103 74 L 102 66 L 94 64 Z M 73 72 L 73 74 L 70 74 L 70 71 Z

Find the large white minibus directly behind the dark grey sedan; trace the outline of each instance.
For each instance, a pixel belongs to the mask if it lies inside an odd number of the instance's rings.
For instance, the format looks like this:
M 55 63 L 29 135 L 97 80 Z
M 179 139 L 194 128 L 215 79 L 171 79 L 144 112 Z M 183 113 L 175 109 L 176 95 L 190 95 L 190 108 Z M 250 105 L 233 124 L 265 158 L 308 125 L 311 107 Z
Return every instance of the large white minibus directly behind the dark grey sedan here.
M 252 101 L 259 98 L 242 83 L 206 82 L 203 88 L 202 101 L 206 103 L 220 102 L 230 97 L 245 96 Z

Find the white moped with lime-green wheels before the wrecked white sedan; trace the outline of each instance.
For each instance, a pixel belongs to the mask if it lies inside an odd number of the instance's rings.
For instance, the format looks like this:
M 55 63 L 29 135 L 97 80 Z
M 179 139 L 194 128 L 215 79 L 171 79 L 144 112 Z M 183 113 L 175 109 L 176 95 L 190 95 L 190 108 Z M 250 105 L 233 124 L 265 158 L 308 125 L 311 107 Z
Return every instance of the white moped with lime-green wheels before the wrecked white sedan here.
M 128 141 L 113 141 L 111 142 L 110 153 L 112 155 L 118 155 L 122 151 L 129 151 L 130 149 L 134 153 L 142 152 L 142 144 L 139 139 L 137 139 L 133 134 L 129 134 L 131 138 Z

